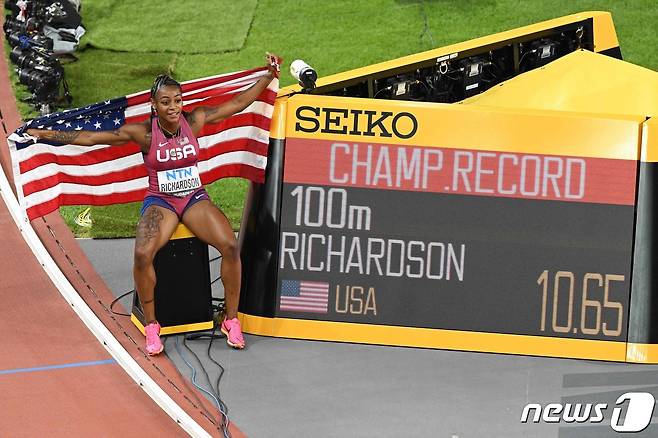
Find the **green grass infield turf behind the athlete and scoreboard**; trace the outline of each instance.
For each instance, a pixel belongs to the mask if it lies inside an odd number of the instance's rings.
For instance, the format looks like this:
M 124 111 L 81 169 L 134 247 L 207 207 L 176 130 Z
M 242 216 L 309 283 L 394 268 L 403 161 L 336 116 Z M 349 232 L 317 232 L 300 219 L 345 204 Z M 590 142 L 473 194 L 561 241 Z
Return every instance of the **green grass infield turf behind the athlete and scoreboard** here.
M 625 60 L 658 70 L 655 0 L 87 0 L 88 33 L 66 77 L 80 106 L 148 89 L 159 73 L 183 81 L 262 65 L 271 51 L 288 61 L 285 86 L 297 58 L 328 75 L 590 10 L 612 12 Z M 234 179 L 209 187 L 235 229 L 246 187 Z M 91 228 L 73 222 L 85 208 L 61 208 L 77 235 L 133 235 L 139 204 L 93 207 Z

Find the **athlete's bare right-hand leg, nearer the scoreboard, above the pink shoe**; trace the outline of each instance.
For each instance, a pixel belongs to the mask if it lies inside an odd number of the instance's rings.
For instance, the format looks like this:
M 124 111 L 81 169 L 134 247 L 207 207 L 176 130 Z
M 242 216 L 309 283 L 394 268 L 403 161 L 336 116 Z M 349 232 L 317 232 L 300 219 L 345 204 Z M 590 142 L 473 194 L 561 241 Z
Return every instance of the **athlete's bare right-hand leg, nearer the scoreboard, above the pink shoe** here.
M 209 200 L 199 201 L 189 207 L 183 213 L 183 223 L 195 236 L 222 254 L 220 275 L 224 283 L 226 319 L 235 318 L 240 300 L 242 268 L 238 241 L 231 224 L 224 213 Z

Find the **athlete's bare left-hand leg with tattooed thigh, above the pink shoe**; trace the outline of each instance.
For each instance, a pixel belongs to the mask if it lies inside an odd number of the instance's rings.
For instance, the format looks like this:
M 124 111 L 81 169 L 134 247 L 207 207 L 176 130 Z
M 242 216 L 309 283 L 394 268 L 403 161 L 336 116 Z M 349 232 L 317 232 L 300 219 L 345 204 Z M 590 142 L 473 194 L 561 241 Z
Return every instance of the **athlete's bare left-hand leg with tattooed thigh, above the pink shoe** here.
M 148 207 L 137 224 L 133 276 L 146 324 L 156 320 L 153 259 L 158 250 L 169 241 L 177 225 L 176 213 L 158 205 Z

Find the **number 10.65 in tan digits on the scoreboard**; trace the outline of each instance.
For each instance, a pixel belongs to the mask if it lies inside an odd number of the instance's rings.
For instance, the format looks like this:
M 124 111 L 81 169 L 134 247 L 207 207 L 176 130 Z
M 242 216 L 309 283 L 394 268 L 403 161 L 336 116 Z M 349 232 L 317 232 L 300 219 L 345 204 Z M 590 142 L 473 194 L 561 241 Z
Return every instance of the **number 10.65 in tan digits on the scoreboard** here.
M 543 271 L 537 279 L 537 284 L 542 286 L 541 331 L 546 331 L 547 301 L 550 290 L 553 293 L 551 315 L 553 332 L 576 334 L 580 331 L 585 335 L 598 335 L 603 330 L 605 336 L 621 335 L 624 307 L 621 302 L 611 300 L 610 294 L 614 284 L 624 280 L 623 275 L 615 274 L 588 272 L 581 280 L 570 271 L 558 271 L 553 276 L 548 270 Z M 551 282 L 553 287 L 550 287 Z M 575 296 L 577 293 L 580 295 L 580 300 Z M 592 298 L 593 296 L 597 296 L 599 299 Z M 580 307 L 578 307 L 578 301 L 580 301 Z M 579 327 L 574 327 L 574 314 L 577 317 L 580 316 Z M 558 319 L 561 323 L 558 322 Z

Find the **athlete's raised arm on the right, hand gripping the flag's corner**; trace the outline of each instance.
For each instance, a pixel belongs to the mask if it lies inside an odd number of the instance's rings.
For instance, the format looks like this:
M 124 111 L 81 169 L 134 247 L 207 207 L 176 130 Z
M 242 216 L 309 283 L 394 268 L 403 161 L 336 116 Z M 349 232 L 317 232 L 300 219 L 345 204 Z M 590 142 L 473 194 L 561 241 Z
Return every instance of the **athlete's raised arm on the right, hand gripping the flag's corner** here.
M 254 85 L 226 103 L 216 106 L 199 106 L 192 110 L 188 114 L 187 119 L 194 134 L 198 134 L 206 123 L 221 122 L 251 105 L 260 93 L 267 88 L 270 82 L 272 82 L 272 79 L 279 77 L 281 61 L 282 59 L 278 56 L 268 53 L 267 75 L 258 79 Z

